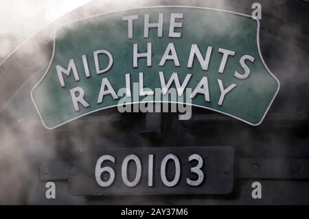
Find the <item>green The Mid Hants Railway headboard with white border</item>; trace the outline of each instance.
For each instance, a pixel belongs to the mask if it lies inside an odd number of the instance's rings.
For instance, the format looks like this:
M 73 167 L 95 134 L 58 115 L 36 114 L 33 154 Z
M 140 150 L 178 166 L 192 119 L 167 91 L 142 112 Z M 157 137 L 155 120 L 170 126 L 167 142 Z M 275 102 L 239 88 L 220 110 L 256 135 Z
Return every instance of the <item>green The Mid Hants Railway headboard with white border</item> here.
M 53 129 L 124 103 L 166 102 L 158 90 L 166 96 L 176 88 L 182 100 L 168 102 L 259 125 L 279 91 L 260 53 L 259 28 L 249 15 L 176 6 L 83 19 L 56 32 L 32 100 Z

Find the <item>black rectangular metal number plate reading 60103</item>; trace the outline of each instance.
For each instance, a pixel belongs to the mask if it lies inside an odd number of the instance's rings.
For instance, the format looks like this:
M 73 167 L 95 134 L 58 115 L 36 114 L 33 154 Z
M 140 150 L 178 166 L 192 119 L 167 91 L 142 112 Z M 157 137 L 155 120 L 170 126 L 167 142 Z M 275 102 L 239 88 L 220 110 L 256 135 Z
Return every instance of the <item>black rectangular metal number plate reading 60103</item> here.
M 130 154 L 135 154 L 141 160 L 141 180 L 135 187 L 127 187 L 122 181 L 122 160 Z M 148 155 L 154 155 L 153 187 L 148 186 Z M 181 163 L 181 178 L 174 187 L 163 185 L 160 176 L 161 160 L 174 154 Z M 191 174 L 190 168 L 196 166 L 188 161 L 192 154 L 199 154 L 203 158 L 202 170 L 205 174 L 200 186 L 187 185 L 186 178 L 196 180 Z M 102 155 L 115 157 L 115 164 L 106 161 L 104 166 L 115 170 L 115 181 L 109 187 L 100 187 L 95 181 L 95 163 Z M 166 195 L 166 194 L 229 194 L 233 189 L 233 149 L 231 147 L 141 147 L 139 149 L 104 149 L 97 147 L 90 152 L 80 152 L 76 159 L 70 162 L 71 172 L 69 176 L 69 191 L 78 196 L 108 196 L 108 195 Z M 102 165 L 103 167 L 103 165 Z M 174 165 L 166 170 L 167 176 L 172 179 L 175 175 Z M 136 167 L 128 170 L 128 176 L 135 178 Z M 104 181 L 110 176 L 106 176 Z M 170 179 L 170 180 L 172 180 Z

